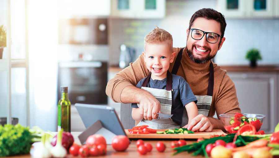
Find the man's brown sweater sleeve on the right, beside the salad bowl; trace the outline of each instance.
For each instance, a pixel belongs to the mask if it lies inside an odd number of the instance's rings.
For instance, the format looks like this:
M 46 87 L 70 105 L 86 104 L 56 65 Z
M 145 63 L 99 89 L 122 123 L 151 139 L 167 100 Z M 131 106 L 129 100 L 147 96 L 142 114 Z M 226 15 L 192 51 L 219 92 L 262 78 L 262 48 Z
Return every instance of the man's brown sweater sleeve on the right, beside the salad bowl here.
M 235 85 L 226 73 L 219 88 L 215 109 L 218 118 L 220 114 L 241 113 Z

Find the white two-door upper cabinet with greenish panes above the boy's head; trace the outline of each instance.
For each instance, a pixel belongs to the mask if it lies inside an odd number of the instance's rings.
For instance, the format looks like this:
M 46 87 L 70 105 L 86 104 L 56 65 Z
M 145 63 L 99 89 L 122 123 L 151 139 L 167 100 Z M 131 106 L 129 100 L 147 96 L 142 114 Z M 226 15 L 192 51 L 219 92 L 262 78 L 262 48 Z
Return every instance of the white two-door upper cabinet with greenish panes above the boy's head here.
M 166 0 L 111 0 L 111 16 L 116 18 L 164 18 Z

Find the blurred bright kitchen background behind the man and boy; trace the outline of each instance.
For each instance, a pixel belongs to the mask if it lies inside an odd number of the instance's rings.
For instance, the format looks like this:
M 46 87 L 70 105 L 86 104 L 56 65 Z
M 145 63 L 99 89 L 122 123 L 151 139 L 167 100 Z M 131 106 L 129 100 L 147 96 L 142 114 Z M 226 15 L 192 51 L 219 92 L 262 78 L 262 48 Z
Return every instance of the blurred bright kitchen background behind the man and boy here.
M 0 58 L 0 117 L 56 131 L 60 86 L 69 87 L 72 131 L 85 129 L 75 103 L 112 106 L 121 117 L 107 81 L 135 61 L 156 26 L 184 47 L 201 8 L 224 14 L 226 41 L 214 62 L 234 81 L 242 112 L 266 115 L 262 129 L 271 132 L 279 121 L 279 0 L 1 0 L 10 40 Z M 262 56 L 256 68 L 245 58 L 251 48 Z

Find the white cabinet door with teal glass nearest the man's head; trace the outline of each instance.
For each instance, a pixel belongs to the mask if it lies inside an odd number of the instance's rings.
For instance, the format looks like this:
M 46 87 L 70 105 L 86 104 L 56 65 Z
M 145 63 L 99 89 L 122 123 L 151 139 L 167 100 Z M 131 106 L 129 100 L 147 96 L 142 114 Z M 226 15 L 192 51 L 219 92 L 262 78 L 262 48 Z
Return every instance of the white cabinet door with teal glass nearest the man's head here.
M 246 0 L 218 0 L 217 9 L 225 18 L 245 17 Z

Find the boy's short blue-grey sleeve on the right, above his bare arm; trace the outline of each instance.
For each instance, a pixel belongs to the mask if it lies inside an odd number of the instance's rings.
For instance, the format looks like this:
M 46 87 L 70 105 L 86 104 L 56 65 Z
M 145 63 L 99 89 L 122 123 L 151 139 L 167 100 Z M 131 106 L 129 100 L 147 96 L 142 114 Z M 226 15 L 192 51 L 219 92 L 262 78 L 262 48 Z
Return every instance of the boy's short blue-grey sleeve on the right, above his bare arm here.
M 180 92 L 180 100 L 181 100 L 183 106 L 185 106 L 186 104 L 188 104 L 190 102 L 197 103 L 196 96 L 194 95 L 191 87 L 185 80 L 181 81 L 181 86 L 179 87 L 179 92 Z

